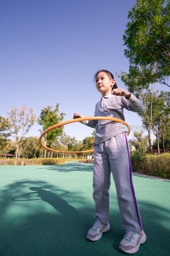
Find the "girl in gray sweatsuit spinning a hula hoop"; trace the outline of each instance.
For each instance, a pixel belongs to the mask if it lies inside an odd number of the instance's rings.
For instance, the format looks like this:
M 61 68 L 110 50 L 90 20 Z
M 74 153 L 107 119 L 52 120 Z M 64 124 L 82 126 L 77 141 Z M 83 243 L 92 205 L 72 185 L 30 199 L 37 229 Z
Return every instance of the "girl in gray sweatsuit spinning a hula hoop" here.
M 130 92 L 117 88 L 115 79 L 108 70 L 95 74 L 96 89 L 102 93 L 96 104 L 95 116 L 108 116 L 123 121 L 123 108 L 133 112 L 142 112 L 144 107 Z M 78 112 L 73 118 L 83 117 Z M 140 244 L 145 243 L 146 235 L 142 229 L 138 204 L 132 183 L 131 159 L 127 132 L 118 122 L 108 120 L 89 120 L 81 123 L 95 130 L 93 198 L 95 201 L 96 222 L 89 230 L 87 239 L 99 240 L 109 225 L 109 188 L 110 173 L 117 190 L 117 201 L 121 214 L 122 226 L 127 230 L 119 244 L 119 249 L 126 253 L 135 253 Z

